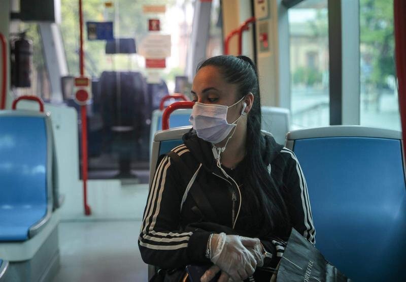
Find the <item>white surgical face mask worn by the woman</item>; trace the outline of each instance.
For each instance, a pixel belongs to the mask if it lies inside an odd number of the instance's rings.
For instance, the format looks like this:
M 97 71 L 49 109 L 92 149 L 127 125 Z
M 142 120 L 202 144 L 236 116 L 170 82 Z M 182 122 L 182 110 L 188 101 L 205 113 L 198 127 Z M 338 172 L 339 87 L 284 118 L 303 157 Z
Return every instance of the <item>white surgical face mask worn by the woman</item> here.
M 189 121 L 192 123 L 193 129 L 199 138 L 211 142 L 219 143 L 223 141 L 231 130 L 236 127 L 236 122 L 241 118 L 244 113 L 247 104 L 244 103 L 241 115 L 234 122 L 227 122 L 228 108 L 240 103 L 244 97 L 231 106 L 203 104 L 196 102 L 193 106 L 192 114 Z

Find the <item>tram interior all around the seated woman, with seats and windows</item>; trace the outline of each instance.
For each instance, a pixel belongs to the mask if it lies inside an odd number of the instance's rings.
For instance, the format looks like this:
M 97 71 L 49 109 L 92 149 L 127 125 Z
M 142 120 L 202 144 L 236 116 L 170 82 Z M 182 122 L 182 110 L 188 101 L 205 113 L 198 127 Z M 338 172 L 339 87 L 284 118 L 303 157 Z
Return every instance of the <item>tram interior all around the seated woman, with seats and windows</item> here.
M 354 281 L 406 280 L 396 1 L 0 0 L 0 282 L 152 277 L 156 162 L 190 126 L 198 63 L 223 54 L 257 65 L 316 247 Z

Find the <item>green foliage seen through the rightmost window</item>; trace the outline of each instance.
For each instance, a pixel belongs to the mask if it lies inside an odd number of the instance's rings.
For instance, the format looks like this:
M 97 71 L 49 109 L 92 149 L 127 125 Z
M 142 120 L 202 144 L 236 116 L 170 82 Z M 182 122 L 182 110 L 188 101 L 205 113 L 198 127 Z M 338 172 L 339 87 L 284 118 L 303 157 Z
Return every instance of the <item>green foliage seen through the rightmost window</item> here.
M 382 88 L 395 74 L 393 0 L 360 0 L 361 56 L 372 67 L 367 83 Z

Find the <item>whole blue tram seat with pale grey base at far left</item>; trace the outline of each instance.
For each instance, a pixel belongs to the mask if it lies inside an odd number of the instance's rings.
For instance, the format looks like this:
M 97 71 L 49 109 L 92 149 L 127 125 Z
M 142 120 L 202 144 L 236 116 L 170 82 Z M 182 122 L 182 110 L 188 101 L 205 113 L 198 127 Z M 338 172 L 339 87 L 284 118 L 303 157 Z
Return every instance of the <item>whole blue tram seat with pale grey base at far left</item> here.
M 48 114 L 0 111 L 0 257 L 15 280 L 37 281 L 59 265 L 53 143 Z

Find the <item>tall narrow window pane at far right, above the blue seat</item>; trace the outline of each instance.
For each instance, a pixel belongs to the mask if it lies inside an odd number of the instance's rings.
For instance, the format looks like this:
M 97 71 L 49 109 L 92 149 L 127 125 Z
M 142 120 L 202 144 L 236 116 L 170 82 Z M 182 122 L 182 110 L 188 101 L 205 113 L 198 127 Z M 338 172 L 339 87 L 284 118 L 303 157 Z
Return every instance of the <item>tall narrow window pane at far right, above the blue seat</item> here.
M 393 0 L 360 0 L 360 123 L 400 130 Z

